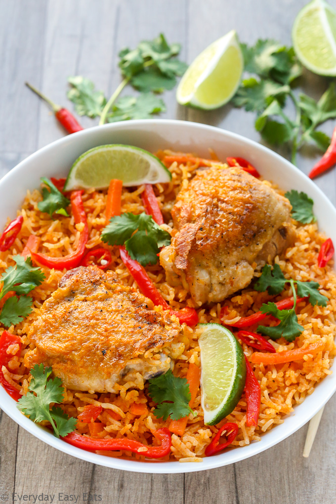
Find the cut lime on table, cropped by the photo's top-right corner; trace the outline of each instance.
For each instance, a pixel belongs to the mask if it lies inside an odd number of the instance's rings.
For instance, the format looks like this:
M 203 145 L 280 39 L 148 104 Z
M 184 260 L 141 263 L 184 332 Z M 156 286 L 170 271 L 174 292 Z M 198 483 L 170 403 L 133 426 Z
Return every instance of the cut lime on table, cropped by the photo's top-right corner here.
M 313 0 L 299 12 L 292 37 L 302 65 L 315 74 L 336 75 L 336 12 L 324 0 Z

